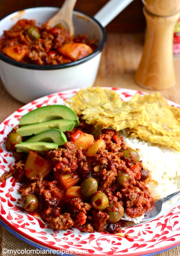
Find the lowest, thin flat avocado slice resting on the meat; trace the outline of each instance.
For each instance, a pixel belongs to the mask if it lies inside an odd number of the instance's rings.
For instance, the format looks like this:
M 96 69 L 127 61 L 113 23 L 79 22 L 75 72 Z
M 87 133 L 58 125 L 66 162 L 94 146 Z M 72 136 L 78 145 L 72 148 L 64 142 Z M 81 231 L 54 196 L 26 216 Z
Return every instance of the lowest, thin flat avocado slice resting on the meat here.
M 36 142 L 21 142 L 15 145 L 16 149 L 28 153 L 29 151 L 45 152 L 58 148 L 57 143 L 36 141 Z

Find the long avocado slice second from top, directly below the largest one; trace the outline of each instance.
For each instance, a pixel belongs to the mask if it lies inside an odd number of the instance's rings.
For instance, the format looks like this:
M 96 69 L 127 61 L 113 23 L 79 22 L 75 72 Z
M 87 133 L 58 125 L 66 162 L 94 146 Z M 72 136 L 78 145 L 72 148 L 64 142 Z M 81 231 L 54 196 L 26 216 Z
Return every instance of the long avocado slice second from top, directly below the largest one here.
M 38 134 L 42 131 L 49 129 L 59 129 L 62 132 L 71 131 L 75 125 L 75 122 L 67 119 L 50 120 L 38 124 L 24 125 L 16 130 L 16 133 L 23 136 L 30 136 L 32 134 Z

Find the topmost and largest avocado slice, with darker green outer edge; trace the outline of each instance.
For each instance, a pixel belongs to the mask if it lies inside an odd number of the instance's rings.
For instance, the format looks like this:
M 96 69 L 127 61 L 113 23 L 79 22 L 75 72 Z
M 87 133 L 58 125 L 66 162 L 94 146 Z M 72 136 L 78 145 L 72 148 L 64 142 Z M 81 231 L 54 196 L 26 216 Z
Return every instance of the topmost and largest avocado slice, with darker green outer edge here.
M 69 119 L 73 120 L 76 126 L 79 125 L 79 118 L 72 109 L 64 105 L 50 105 L 39 107 L 22 116 L 19 127 L 54 119 Z

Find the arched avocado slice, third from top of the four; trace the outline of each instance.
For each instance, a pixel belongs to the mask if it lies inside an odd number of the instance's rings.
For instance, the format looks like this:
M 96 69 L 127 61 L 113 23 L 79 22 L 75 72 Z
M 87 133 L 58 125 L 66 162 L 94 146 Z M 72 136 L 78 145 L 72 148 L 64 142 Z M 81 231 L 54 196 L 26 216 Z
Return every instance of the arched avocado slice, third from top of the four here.
M 36 141 L 55 142 L 58 144 L 58 146 L 61 146 L 67 142 L 67 138 L 61 130 L 50 129 L 50 130 L 42 131 L 30 137 L 25 142 L 36 142 Z

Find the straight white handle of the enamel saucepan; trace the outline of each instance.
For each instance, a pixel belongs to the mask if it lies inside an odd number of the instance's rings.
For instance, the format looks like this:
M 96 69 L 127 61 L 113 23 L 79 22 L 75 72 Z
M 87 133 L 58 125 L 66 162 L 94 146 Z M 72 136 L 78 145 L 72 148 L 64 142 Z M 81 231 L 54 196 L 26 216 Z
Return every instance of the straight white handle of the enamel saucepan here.
M 107 26 L 122 10 L 124 10 L 133 0 L 110 0 L 95 14 L 103 27 Z

